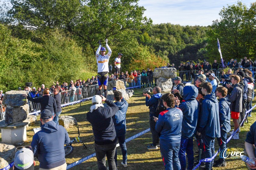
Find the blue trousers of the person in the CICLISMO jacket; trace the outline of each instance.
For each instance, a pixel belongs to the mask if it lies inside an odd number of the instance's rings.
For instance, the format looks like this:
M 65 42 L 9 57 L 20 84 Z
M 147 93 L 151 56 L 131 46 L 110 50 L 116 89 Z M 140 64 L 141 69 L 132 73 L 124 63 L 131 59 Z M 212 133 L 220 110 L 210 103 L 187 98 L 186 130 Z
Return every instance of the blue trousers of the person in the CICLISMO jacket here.
M 160 152 L 164 162 L 165 170 L 180 170 L 180 161 L 178 153 L 180 146 L 171 146 L 170 142 L 161 140 Z

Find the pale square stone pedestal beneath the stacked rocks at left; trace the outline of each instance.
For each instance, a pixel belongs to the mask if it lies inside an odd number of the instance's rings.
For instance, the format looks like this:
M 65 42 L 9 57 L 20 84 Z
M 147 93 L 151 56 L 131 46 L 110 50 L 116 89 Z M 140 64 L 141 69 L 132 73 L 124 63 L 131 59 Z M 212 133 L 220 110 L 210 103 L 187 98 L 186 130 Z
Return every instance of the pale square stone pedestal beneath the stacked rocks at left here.
M 12 123 L 1 126 L 2 143 L 17 144 L 27 139 L 26 125 L 28 122 Z

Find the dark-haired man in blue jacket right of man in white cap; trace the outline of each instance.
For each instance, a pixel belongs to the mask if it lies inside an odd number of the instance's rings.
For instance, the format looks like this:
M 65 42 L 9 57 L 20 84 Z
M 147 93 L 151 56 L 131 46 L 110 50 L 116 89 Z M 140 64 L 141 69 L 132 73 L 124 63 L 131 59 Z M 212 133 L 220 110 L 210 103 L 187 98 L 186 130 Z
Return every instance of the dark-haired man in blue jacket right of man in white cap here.
M 122 93 L 116 91 L 114 93 L 114 99 L 116 100 L 115 104 L 119 108 L 116 115 L 112 116 L 113 122 L 115 124 L 116 129 L 116 137 L 118 138 L 118 142 L 120 148 L 122 150 L 123 162 L 121 164 L 126 167 L 127 166 L 127 149 L 125 144 L 125 133 L 126 133 L 126 112 L 128 109 L 128 102 L 123 98 Z M 117 152 L 115 154 L 115 162 L 117 167 Z

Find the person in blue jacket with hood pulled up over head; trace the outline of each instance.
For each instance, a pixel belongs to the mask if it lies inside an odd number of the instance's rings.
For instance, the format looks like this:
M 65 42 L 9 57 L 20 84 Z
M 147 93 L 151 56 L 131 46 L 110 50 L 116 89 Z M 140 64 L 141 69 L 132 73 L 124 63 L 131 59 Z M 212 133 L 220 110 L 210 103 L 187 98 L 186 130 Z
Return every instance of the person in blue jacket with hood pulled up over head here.
M 199 113 L 199 104 L 196 100 L 198 89 L 196 86 L 185 86 L 183 88 L 183 101 L 177 103 L 183 113 L 179 159 L 181 170 L 186 170 L 186 153 L 188 157 L 188 170 L 194 167 L 193 137 L 196 134 L 196 124 Z M 176 103 L 175 103 L 176 104 Z

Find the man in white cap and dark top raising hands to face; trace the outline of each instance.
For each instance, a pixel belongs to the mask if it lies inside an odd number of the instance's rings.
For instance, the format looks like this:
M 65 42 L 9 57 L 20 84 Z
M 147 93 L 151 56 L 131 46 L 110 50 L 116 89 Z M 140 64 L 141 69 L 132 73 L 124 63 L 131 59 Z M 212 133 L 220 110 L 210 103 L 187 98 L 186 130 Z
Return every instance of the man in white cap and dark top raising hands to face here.
M 104 107 L 103 101 L 109 107 Z M 106 99 L 102 95 L 93 96 L 92 104 L 90 111 L 86 114 L 86 118 L 92 124 L 98 169 L 106 170 L 107 155 L 109 170 L 116 170 L 114 159 L 116 152 L 116 130 L 112 116 L 118 112 L 119 108 L 113 101 Z

